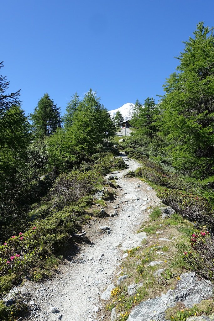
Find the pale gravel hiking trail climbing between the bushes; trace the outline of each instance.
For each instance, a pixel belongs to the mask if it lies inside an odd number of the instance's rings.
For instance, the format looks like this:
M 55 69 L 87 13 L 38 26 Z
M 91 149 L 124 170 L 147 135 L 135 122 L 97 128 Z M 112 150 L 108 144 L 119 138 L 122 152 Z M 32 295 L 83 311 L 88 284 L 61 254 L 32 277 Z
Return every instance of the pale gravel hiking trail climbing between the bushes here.
M 148 217 L 146 206 L 160 204 L 155 191 L 138 178 L 124 177 L 129 170 L 134 171 L 141 165 L 121 155 L 127 169 L 114 173 L 118 188 L 116 198 L 107 203 L 108 214 L 117 210 L 117 216 L 93 218 L 91 225 L 84 226 L 86 236 L 92 244 L 81 246 L 77 255 L 65 260 L 59 273 L 42 283 L 26 281 L 18 289 L 21 293 L 31 294 L 32 313 L 26 320 L 38 321 L 96 321 L 105 318 L 108 301 L 100 299 L 107 286 L 116 280 L 116 273 L 124 254 L 123 246 L 133 239 L 133 233 Z M 136 199 L 127 196 L 133 194 Z M 132 196 L 133 196 L 132 195 Z M 131 196 L 130 196 L 131 197 Z M 148 200 L 147 200 L 148 198 Z M 146 206 L 145 206 L 146 204 Z M 110 233 L 102 233 L 100 226 L 107 225 Z M 133 247 L 133 246 L 131 246 Z M 26 296 L 26 301 L 29 299 Z M 55 307 L 56 312 L 51 309 Z

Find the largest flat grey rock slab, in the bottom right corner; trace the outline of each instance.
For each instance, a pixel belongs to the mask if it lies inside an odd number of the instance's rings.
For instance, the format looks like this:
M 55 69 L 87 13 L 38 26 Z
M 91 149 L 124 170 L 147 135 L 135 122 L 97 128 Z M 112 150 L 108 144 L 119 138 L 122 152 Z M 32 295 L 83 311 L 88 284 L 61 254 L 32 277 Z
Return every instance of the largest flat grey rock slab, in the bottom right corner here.
M 172 308 L 177 302 L 182 302 L 186 308 L 212 297 L 212 284 L 199 280 L 195 273 L 184 273 L 180 276 L 175 290 L 154 299 L 141 302 L 131 311 L 128 321 L 166 321 L 165 311 Z M 194 319 L 193 319 L 194 320 Z

